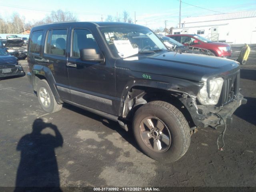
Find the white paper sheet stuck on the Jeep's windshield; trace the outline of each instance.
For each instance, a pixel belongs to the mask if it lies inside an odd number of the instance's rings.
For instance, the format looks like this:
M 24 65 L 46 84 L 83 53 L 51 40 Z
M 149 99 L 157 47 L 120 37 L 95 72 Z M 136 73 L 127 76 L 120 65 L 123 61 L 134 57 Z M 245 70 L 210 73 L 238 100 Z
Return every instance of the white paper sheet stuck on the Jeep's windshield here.
M 138 48 L 133 48 L 129 40 L 114 40 L 114 45 L 118 51 L 118 55 L 126 58 L 139 52 Z

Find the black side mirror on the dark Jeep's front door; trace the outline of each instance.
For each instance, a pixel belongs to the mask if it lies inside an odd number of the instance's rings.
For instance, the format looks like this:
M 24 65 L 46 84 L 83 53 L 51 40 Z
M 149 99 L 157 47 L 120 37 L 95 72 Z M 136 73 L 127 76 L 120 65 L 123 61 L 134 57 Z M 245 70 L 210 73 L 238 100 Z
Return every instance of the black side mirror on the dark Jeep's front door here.
M 80 59 L 82 61 L 104 62 L 104 58 L 101 58 L 96 49 L 81 49 Z

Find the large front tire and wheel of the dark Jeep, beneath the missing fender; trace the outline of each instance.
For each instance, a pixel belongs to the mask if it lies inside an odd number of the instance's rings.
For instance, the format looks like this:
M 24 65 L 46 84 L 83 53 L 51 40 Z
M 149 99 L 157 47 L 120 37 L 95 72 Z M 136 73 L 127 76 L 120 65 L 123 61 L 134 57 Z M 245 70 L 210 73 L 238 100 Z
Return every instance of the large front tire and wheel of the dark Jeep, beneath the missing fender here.
M 132 128 L 142 151 L 160 162 L 177 161 L 190 145 L 186 118 L 167 102 L 152 101 L 141 106 L 134 114 Z

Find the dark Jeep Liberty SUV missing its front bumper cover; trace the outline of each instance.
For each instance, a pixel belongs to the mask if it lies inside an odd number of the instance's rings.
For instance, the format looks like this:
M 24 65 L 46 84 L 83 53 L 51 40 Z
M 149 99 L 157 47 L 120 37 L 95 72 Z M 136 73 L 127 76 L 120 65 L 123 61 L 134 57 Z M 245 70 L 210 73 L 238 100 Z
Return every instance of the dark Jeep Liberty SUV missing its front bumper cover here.
M 180 159 L 191 132 L 230 123 L 246 99 L 238 62 L 169 51 L 149 28 L 63 22 L 32 28 L 28 79 L 42 108 L 72 104 L 114 120 L 164 162 Z

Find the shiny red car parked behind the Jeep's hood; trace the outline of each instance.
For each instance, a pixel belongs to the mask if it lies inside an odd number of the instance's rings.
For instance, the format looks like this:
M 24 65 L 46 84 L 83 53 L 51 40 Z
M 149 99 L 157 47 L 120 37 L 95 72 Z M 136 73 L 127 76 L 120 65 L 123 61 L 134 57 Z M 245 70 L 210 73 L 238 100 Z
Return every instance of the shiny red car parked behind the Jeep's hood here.
M 178 35 L 166 35 L 174 40 L 184 44 L 185 46 L 199 47 L 208 49 L 214 53 L 215 56 L 230 58 L 232 49 L 229 44 L 212 42 L 200 35 L 196 34 L 178 34 Z

